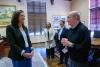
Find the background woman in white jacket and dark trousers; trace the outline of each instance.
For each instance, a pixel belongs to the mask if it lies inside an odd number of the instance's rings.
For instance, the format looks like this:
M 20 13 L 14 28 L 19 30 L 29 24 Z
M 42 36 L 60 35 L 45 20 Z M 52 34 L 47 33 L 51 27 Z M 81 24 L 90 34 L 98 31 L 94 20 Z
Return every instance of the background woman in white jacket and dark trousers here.
M 44 35 L 46 38 L 46 55 L 47 59 L 54 58 L 54 30 L 51 28 L 51 24 L 48 23 L 46 29 L 44 30 Z

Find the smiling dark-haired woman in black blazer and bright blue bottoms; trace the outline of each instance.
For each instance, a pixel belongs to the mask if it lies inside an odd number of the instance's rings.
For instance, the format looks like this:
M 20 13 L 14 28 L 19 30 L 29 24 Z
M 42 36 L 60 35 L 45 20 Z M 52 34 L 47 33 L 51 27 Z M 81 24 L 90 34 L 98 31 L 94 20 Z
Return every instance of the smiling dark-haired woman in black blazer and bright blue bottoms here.
M 14 67 L 32 67 L 32 44 L 28 29 L 24 26 L 25 14 L 22 10 L 15 11 L 11 25 L 6 28 L 6 35 L 10 45 L 9 58 Z

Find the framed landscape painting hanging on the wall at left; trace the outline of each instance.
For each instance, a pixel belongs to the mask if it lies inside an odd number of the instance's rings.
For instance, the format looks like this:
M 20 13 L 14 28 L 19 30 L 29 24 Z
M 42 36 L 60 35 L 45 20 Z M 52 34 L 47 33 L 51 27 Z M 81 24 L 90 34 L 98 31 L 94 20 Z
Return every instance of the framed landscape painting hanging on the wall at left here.
M 13 12 L 16 10 L 14 5 L 0 5 L 0 27 L 5 27 L 11 23 Z

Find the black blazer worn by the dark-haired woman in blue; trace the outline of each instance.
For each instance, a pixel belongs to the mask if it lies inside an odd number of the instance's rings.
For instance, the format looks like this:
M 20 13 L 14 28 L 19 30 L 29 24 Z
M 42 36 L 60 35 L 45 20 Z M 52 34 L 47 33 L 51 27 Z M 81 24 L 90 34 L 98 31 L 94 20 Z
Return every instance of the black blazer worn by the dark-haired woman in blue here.
M 26 33 L 27 39 L 28 39 L 28 44 L 30 47 L 30 52 L 31 52 L 31 41 L 29 38 L 29 33 L 28 29 L 23 26 L 23 29 Z M 25 41 L 24 38 L 19 30 L 18 27 L 14 27 L 12 25 L 9 25 L 6 27 L 6 35 L 7 39 L 10 45 L 10 51 L 9 51 L 9 58 L 14 59 L 14 60 L 21 60 L 24 59 L 25 57 L 21 56 L 22 50 L 25 50 Z

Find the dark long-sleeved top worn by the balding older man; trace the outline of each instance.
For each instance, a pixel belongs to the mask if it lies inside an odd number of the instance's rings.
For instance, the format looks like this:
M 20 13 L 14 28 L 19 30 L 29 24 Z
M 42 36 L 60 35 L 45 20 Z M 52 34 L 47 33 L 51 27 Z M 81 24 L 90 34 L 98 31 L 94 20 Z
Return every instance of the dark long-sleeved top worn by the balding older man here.
M 88 28 L 79 22 L 74 29 L 69 30 L 68 40 L 74 43 L 73 47 L 69 47 L 71 60 L 77 62 L 87 62 L 88 52 L 91 45 Z

